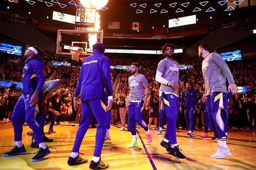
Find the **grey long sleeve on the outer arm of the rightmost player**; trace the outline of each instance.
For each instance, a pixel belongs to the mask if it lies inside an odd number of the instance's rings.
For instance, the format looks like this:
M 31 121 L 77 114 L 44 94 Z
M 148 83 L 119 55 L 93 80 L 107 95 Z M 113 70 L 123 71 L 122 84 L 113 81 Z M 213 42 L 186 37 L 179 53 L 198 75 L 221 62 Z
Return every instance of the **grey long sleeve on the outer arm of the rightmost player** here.
M 219 54 L 217 54 L 217 53 L 214 53 L 214 55 L 212 55 L 212 59 L 222 69 L 222 71 L 224 71 L 224 73 L 226 75 L 226 78 L 227 78 L 227 81 L 228 81 L 228 84 L 234 83 L 234 79 L 233 79 L 233 76 L 231 74 L 231 71 L 228 68 L 228 66 L 225 63 L 225 61 L 223 61 L 221 56 Z

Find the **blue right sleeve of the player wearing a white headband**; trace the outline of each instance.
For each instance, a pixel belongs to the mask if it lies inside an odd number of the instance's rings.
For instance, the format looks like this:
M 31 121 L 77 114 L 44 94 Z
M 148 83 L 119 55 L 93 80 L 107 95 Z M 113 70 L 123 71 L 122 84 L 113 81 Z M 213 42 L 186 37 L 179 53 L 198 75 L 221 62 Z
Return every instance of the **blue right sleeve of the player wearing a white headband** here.
M 44 69 L 42 67 L 42 63 L 39 61 L 36 61 L 32 64 L 33 71 L 36 76 L 37 85 L 36 90 L 41 91 L 42 87 L 45 84 L 45 76 L 44 76 Z

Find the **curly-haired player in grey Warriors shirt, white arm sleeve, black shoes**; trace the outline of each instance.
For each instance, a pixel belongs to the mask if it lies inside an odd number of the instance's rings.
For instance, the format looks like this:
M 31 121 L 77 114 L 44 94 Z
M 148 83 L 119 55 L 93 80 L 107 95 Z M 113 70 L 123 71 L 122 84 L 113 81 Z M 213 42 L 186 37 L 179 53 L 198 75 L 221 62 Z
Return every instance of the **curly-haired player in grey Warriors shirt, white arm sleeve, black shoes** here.
M 179 110 L 179 63 L 173 59 L 174 44 L 165 44 L 162 47 L 162 53 L 166 58 L 158 63 L 156 81 L 161 83 L 159 95 L 166 114 L 167 128 L 160 144 L 169 154 L 179 159 L 186 159 L 179 150 L 176 138 L 176 120 Z

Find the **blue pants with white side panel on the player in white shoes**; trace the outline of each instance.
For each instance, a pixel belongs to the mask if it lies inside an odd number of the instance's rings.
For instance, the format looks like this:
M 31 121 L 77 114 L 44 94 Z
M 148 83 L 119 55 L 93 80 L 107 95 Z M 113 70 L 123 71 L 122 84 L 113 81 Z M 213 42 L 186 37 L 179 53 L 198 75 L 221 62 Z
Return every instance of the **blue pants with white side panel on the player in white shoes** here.
M 206 107 L 216 138 L 226 137 L 228 120 L 227 93 L 212 92 L 206 96 Z M 219 111 L 219 109 L 221 109 Z

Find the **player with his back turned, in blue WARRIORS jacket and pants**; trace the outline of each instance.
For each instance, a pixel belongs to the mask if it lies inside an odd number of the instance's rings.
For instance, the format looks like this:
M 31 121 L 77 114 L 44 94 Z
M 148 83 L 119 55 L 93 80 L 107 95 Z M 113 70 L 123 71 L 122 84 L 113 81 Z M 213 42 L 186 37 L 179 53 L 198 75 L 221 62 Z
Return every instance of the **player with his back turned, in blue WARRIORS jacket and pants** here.
M 103 56 L 104 51 L 104 45 L 97 42 L 93 45 L 93 55 L 87 57 L 82 62 L 78 84 L 74 94 L 74 108 L 76 110 L 78 108 L 77 97 L 80 93 L 82 116 L 79 128 L 76 132 L 74 147 L 68 160 L 69 165 L 76 165 L 88 161 L 87 159 L 82 159 L 78 153 L 82 139 L 86 134 L 94 115 L 98 122 L 98 126 L 95 137 L 95 149 L 90 168 L 104 169 L 109 166 L 109 164 L 105 164 L 100 158 L 106 134 L 106 111 L 111 109 L 113 103 L 110 60 L 108 57 Z M 101 101 L 104 88 L 108 95 L 108 106 L 105 106 L 104 101 Z

